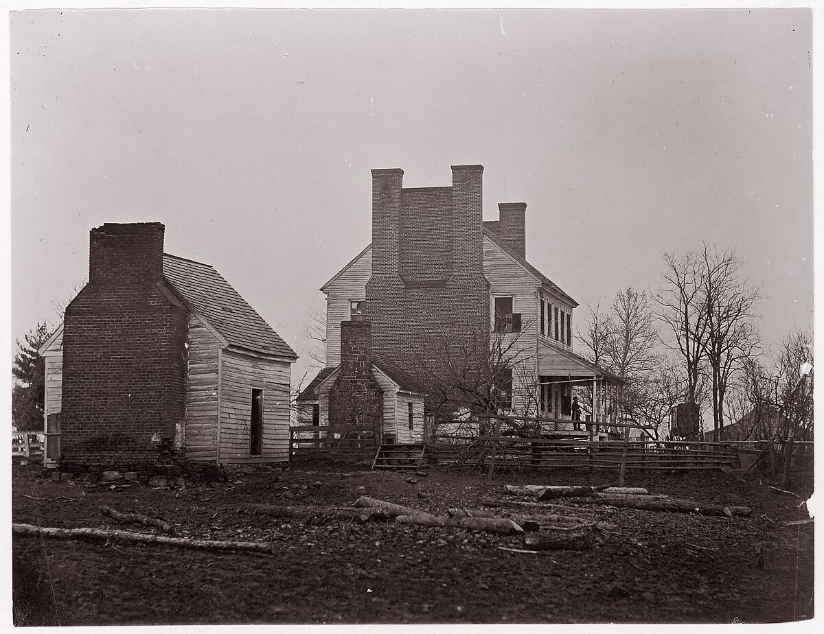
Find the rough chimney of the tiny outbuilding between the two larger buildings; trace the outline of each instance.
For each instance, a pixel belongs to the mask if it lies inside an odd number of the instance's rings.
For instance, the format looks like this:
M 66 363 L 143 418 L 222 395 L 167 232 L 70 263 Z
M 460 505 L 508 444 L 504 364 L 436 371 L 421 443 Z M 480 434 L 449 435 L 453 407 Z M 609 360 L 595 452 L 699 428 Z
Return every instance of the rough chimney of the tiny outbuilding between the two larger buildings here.
M 332 425 L 372 424 L 383 409 L 382 391 L 372 377 L 372 324 L 340 323 L 340 371 L 329 392 Z

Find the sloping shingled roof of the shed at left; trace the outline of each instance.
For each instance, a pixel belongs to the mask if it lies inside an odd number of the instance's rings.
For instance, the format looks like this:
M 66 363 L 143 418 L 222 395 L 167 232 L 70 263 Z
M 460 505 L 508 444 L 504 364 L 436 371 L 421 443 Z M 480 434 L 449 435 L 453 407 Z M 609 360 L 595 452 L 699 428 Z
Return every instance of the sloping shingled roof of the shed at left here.
M 297 359 L 293 349 L 208 264 L 163 254 L 163 277 L 227 346 Z

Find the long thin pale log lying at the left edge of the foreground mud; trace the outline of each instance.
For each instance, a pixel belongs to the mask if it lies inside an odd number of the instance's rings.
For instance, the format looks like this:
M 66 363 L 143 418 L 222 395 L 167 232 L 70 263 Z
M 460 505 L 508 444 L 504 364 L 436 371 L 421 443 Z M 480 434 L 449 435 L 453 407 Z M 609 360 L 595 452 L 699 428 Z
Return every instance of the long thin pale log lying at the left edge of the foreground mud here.
M 179 548 L 194 548 L 197 550 L 223 550 L 274 553 L 270 543 L 260 542 L 232 542 L 216 541 L 213 539 L 192 539 L 183 537 L 167 537 L 166 535 L 151 535 L 145 533 L 131 533 L 128 530 L 118 529 L 58 529 L 50 526 L 34 526 L 32 524 L 12 524 L 12 533 L 22 537 L 48 537 L 54 539 L 91 539 L 96 541 L 110 541 L 121 539 L 126 542 L 160 543 L 164 546 Z

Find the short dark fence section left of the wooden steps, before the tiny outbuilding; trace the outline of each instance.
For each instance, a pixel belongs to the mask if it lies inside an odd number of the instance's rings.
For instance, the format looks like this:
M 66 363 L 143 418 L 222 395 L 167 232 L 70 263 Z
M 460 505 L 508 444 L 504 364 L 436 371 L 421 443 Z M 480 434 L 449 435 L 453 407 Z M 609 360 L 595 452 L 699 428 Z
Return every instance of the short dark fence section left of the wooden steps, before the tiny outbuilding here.
M 372 462 L 377 451 L 376 443 L 373 424 L 289 428 L 289 456 L 293 460 Z

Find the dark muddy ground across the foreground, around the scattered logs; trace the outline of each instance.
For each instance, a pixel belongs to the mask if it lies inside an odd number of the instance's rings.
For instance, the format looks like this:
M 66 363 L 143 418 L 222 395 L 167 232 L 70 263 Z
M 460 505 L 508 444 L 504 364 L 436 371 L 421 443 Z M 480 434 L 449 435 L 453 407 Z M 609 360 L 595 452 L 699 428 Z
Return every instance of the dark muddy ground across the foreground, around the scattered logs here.
M 349 506 L 368 495 L 444 511 L 480 508 L 503 483 L 616 484 L 584 469 L 496 476 L 429 470 L 372 472 L 346 465 L 258 469 L 219 487 L 41 480 L 15 467 L 15 522 L 117 527 L 98 506 L 155 515 L 178 534 L 269 542 L 276 554 L 218 553 L 154 544 L 12 540 L 18 625 L 158 623 L 779 622 L 812 618 L 812 529 L 798 499 L 758 478 L 717 472 L 628 473 L 647 487 L 707 503 L 751 506 L 749 518 L 600 505 L 569 514 L 617 524 L 591 550 L 508 552 L 521 536 L 466 529 L 254 515 L 250 505 Z M 801 491 L 802 497 L 804 491 Z M 562 509 L 563 510 L 563 509 Z M 496 512 L 502 509 L 496 509 Z M 558 512 L 557 509 L 554 512 Z M 756 550 L 770 554 L 756 568 Z M 764 548 L 763 546 L 761 548 Z

